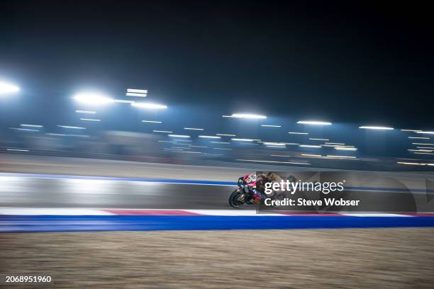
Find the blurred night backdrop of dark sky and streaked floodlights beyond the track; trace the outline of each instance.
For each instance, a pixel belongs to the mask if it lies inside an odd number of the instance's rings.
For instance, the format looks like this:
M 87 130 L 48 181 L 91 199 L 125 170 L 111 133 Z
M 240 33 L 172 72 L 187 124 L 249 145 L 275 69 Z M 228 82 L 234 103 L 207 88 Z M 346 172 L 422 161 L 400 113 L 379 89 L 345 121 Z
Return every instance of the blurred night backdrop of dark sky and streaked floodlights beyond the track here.
M 2 5 L 0 81 L 19 88 L 0 92 L 2 153 L 433 169 L 434 45 L 421 7 Z M 222 117 L 233 113 L 267 118 Z

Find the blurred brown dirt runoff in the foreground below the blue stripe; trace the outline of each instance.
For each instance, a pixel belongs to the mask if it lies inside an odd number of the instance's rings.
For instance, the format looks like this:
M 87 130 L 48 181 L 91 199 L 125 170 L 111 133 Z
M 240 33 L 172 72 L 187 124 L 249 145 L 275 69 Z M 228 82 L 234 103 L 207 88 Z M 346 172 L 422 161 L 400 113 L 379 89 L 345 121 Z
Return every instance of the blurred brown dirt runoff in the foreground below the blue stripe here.
M 4 233 L 0 275 L 52 278 L 9 288 L 433 288 L 434 228 Z

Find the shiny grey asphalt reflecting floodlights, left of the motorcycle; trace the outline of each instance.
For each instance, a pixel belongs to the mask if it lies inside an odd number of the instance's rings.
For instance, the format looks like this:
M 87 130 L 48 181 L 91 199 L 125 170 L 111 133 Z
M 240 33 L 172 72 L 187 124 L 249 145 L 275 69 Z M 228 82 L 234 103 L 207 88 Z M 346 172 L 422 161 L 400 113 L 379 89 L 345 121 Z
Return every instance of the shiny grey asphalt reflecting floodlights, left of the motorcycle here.
M 228 209 L 235 186 L 0 177 L 1 207 Z

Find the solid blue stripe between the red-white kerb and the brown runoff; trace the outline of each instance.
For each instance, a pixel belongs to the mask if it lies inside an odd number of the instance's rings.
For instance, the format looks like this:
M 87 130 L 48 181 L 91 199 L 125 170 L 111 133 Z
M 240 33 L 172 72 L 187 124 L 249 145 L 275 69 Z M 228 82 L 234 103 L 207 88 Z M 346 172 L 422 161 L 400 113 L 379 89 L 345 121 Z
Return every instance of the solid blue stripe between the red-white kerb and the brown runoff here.
M 434 217 L 0 216 L 0 232 L 434 227 Z

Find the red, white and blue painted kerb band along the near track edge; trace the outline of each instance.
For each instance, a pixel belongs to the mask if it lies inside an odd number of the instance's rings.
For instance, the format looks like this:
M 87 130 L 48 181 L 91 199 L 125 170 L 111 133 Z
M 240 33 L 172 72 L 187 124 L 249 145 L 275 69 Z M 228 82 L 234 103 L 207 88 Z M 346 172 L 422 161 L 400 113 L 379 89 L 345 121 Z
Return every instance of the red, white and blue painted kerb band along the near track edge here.
M 0 208 L 0 232 L 434 227 L 434 214 Z

